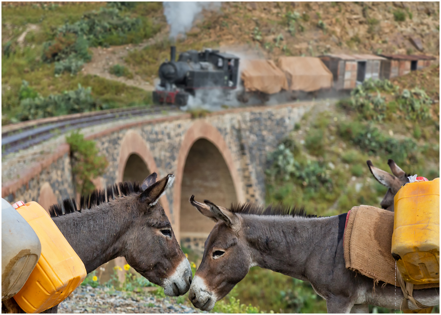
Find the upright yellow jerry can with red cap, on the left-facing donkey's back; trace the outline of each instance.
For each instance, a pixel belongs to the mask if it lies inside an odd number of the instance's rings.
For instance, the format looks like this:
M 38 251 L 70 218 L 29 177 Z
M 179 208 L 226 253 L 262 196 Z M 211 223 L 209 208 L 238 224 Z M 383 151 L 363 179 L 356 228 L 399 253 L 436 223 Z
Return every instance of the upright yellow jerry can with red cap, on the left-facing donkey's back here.
M 404 281 L 439 282 L 440 179 L 405 184 L 394 197 L 394 211 L 392 256 Z

